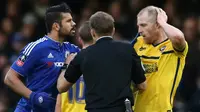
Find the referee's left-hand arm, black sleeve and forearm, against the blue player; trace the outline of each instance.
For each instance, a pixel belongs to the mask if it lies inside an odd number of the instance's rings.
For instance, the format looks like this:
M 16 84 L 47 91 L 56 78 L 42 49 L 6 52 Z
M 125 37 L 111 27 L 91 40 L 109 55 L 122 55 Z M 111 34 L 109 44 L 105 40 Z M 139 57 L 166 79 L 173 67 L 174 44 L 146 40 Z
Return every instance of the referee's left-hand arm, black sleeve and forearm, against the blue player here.
M 60 93 L 66 92 L 82 75 L 80 70 L 79 55 L 70 62 L 66 70 L 63 70 L 58 78 L 57 89 Z

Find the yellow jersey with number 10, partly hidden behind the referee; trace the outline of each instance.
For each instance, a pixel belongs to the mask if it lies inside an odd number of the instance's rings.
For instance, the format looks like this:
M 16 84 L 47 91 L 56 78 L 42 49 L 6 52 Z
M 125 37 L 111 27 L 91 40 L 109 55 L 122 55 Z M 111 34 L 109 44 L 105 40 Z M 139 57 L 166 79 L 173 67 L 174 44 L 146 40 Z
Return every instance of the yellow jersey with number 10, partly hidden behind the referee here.
M 61 112 L 87 112 L 85 105 L 85 83 L 81 76 L 68 92 L 61 94 Z

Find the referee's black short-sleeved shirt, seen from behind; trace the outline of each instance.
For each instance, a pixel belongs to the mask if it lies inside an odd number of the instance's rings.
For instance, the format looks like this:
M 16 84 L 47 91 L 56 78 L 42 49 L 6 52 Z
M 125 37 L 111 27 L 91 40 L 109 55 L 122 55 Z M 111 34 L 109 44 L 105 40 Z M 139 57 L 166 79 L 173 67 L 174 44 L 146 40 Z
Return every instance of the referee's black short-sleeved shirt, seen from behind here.
M 82 74 L 87 110 L 124 106 L 126 98 L 133 104 L 131 80 L 136 84 L 145 81 L 141 61 L 132 46 L 110 37 L 79 52 L 64 77 L 75 83 Z

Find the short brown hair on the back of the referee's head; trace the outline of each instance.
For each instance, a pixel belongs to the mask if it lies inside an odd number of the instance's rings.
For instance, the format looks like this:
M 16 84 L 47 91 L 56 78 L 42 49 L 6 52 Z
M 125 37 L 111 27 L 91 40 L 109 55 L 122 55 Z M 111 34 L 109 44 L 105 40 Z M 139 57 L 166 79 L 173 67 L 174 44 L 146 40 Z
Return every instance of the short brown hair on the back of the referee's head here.
M 90 19 L 90 28 L 94 29 L 98 35 L 112 34 L 114 28 L 113 17 L 105 12 L 98 11 Z

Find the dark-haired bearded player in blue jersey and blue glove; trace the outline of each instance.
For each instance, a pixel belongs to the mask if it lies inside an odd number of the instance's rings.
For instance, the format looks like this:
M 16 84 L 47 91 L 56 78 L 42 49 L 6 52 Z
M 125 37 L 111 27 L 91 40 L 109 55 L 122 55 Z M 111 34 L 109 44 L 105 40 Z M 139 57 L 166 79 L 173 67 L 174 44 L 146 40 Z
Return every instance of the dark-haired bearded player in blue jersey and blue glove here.
M 5 84 L 22 96 L 15 112 L 54 112 L 58 91 L 56 82 L 68 54 L 78 47 L 63 42 L 75 34 L 75 23 L 67 4 L 47 9 L 48 34 L 21 51 L 5 77 Z M 20 80 L 24 77 L 26 84 Z

